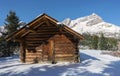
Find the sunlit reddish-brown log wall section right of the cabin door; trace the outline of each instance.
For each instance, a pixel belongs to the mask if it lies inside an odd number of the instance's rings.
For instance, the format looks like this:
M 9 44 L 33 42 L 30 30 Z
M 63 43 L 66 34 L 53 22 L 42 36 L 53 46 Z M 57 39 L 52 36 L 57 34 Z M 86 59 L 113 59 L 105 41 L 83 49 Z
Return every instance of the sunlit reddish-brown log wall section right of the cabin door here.
M 71 61 L 74 62 L 75 45 L 65 35 L 55 35 L 54 50 L 55 61 Z

